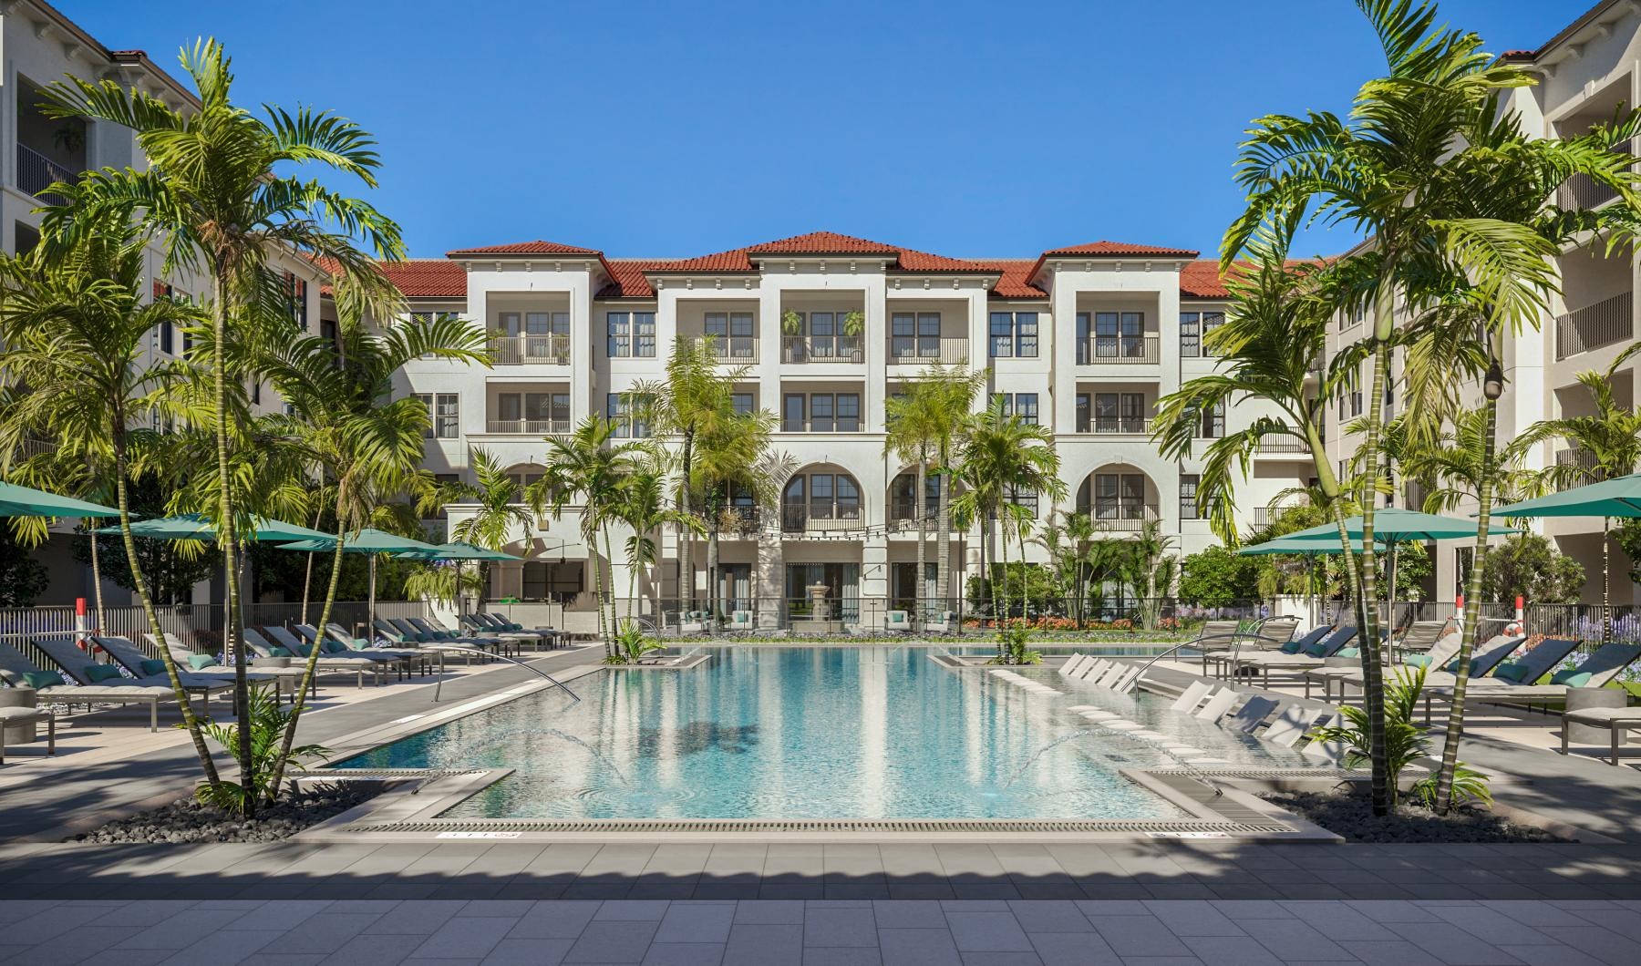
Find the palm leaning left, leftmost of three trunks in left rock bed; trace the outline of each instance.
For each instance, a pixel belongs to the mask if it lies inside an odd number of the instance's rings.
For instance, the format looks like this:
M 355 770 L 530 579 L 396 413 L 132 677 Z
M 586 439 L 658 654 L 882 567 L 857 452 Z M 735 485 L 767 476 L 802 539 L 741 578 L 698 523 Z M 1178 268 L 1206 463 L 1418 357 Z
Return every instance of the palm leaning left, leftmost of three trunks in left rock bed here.
M 21 441 L 46 436 L 57 444 L 49 454 L 54 464 L 108 469 L 136 599 L 149 633 L 162 641 L 159 613 L 136 563 L 128 482 L 133 448 L 153 436 L 136 426 L 156 410 L 169 412 L 174 402 L 167 394 L 172 369 L 151 366 L 148 335 L 161 325 L 194 325 L 197 312 L 171 298 L 144 305 L 144 276 L 143 243 L 125 221 L 110 221 L 59 257 L 48 257 L 43 248 L 0 256 L 0 382 L 7 385 L 0 395 L 0 451 L 10 459 Z M 217 764 L 171 649 L 159 648 L 159 659 L 207 786 L 217 789 Z

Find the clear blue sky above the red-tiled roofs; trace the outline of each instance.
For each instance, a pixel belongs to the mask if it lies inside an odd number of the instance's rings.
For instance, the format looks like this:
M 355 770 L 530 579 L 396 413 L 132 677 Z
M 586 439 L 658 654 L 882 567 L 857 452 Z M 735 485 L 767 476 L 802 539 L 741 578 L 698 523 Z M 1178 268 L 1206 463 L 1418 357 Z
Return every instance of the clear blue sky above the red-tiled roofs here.
M 1382 67 L 1347 0 L 57 3 L 167 67 L 213 34 L 241 103 L 363 123 L 373 200 L 415 256 L 545 238 L 668 257 L 814 230 L 950 256 L 1211 253 L 1246 123 L 1344 110 Z M 1505 51 L 1590 3 L 1441 8 Z

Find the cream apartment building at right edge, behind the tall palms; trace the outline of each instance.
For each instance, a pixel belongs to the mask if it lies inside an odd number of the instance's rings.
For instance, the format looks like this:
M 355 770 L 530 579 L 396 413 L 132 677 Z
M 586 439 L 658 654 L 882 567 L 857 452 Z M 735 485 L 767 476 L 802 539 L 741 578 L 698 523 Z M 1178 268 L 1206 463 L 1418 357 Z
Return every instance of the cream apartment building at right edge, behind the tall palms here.
M 1620 110 L 1641 103 L 1641 3 L 1603 0 L 1566 30 L 1533 51 L 1511 51 L 1503 61 L 1533 74 L 1536 84 L 1508 92 L 1502 110 L 1513 113 L 1529 136 L 1556 138 L 1587 131 L 1595 123 L 1611 121 Z M 1574 179 L 1561 189 L 1564 207 L 1600 207 L 1615 195 L 1587 179 Z M 1580 372 L 1605 372 L 1613 359 L 1636 338 L 1636 253 L 1625 246 L 1608 251 L 1605 238 L 1580 238 L 1566 246 L 1559 257 L 1561 294 L 1551 312 L 1534 328 L 1503 346 L 1508 390 L 1500 402 L 1498 438 L 1510 440 L 1539 420 L 1580 417 L 1595 412 L 1588 390 L 1579 384 Z M 1339 320 L 1331 349 L 1364 338 L 1370 331 L 1372 313 Z M 1400 372 L 1400 356 L 1393 362 Z M 1365 372 L 1364 372 L 1365 377 Z M 1365 379 L 1364 379 L 1365 382 Z M 1393 380 L 1395 382 L 1395 380 Z M 1641 366 L 1626 366 L 1611 380 L 1615 402 L 1634 407 L 1641 399 Z M 1328 444 L 1337 461 L 1351 456 L 1355 440 L 1342 435 L 1342 426 L 1364 413 L 1362 392 L 1336 400 L 1329 415 Z M 1387 395 L 1387 412 L 1398 407 L 1396 389 Z M 1472 405 L 1480 403 L 1474 390 Z M 1587 461 L 1588 456 L 1567 443 L 1546 443 L 1528 456 L 1528 467 L 1556 462 Z M 1398 487 L 1398 505 L 1416 502 L 1419 494 Z M 1602 520 L 1585 517 L 1544 518 L 1524 526 L 1547 536 L 1556 548 L 1579 559 L 1585 569 L 1584 600 L 1602 599 Z M 1625 577 L 1631 561 L 1610 546 L 1615 604 L 1641 604 L 1641 587 Z M 1436 556 L 1436 576 L 1428 589 L 1438 599 L 1452 599 L 1462 590 L 1469 572 L 1470 548 L 1442 543 Z

